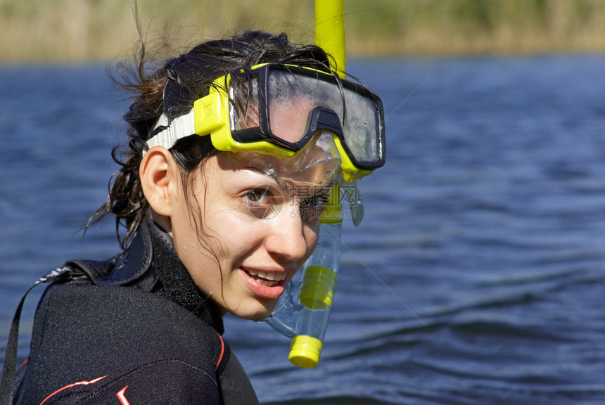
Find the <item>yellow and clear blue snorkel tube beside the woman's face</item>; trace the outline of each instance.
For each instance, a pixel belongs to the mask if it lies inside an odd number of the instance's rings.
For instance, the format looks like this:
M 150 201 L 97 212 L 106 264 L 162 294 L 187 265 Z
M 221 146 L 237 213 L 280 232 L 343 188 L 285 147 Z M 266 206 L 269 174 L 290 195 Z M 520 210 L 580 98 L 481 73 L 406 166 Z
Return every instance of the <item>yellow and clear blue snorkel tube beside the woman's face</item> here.
M 316 44 L 333 56 L 338 75 L 344 77 L 344 1 L 315 0 L 315 24 Z M 303 266 L 298 289 L 293 282 L 289 283 L 276 309 L 265 320 L 272 328 L 292 338 L 288 359 L 295 366 L 313 368 L 319 363 L 340 266 L 340 232 L 344 216 L 340 188 L 343 184 L 345 180 L 340 176 L 331 190 L 329 205 L 321 214 L 317 247 Z M 355 183 L 346 187 L 353 223 L 357 226 L 363 217 L 362 201 L 357 197 Z M 294 299 L 296 294 L 298 297 Z

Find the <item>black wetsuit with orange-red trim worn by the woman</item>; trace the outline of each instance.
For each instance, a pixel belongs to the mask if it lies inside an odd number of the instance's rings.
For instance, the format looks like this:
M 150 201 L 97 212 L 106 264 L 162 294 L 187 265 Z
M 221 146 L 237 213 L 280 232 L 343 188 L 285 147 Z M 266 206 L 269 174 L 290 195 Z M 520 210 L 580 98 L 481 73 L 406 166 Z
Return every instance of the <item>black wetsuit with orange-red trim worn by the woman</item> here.
M 146 219 L 124 255 L 67 262 L 39 303 L 15 404 L 257 404 L 222 318 Z

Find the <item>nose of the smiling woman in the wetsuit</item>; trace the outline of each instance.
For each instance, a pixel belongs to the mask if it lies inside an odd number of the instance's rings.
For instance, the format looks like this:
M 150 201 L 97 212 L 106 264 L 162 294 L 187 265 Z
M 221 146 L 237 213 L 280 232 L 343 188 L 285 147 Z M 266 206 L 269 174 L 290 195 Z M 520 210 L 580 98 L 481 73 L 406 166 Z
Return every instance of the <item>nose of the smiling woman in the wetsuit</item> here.
M 273 219 L 272 230 L 265 240 L 267 252 L 288 262 L 298 262 L 307 255 L 307 238 L 303 218 L 298 210 L 281 210 Z

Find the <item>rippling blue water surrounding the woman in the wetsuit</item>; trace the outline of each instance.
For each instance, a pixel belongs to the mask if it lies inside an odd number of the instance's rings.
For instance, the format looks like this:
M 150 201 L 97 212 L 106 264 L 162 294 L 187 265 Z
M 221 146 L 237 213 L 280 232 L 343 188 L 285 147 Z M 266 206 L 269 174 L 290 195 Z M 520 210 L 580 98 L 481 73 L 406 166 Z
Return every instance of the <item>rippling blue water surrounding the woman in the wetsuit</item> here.
M 388 160 L 344 226 L 320 364 L 228 317 L 265 404 L 605 403 L 605 56 L 352 60 Z M 0 67 L 0 341 L 20 295 L 117 252 L 103 203 L 127 103 L 103 66 Z M 32 323 L 34 292 L 23 316 Z

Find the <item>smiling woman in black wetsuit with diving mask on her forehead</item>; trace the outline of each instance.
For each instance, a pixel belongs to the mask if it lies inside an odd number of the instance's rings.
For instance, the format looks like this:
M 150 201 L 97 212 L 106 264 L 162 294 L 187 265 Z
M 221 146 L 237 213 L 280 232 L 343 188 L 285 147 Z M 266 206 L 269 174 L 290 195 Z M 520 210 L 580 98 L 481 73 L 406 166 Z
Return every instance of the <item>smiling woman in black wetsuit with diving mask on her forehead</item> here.
M 89 221 L 113 214 L 124 252 L 67 262 L 47 288 L 15 404 L 257 403 L 222 316 L 271 314 L 340 170 L 383 163 L 378 98 L 285 34 L 206 42 L 151 75 L 143 49 L 138 72 Z

